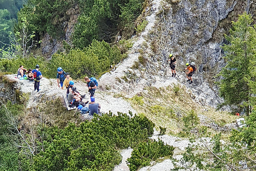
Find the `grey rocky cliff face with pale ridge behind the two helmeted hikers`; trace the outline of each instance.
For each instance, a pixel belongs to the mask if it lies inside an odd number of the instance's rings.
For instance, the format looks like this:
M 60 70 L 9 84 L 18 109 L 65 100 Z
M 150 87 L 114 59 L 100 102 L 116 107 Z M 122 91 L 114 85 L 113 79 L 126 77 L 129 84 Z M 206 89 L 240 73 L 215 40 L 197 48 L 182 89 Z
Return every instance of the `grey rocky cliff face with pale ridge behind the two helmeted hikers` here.
M 193 75 L 194 84 L 186 87 L 197 95 L 197 102 L 217 106 L 222 99 L 218 97 L 214 76 L 225 65 L 221 50 L 224 34 L 228 33 L 231 21 L 244 11 L 255 17 L 255 3 L 255 0 L 153 1 L 143 13 L 148 21 L 145 31 L 134 39 L 129 57 L 117 70 L 102 76 L 102 84 L 109 84 L 115 93 L 122 90 L 129 97 L 143 91 L 145 86 L 159 87 L 177 81 L 186 84 L 183 68 L 186 62 L 194 61 L 198 68 Z M 177 59 L 177 79 L 170 77 L 166 63 L 169 53 Z M 107 81 L 110 79 L 111 82 Z

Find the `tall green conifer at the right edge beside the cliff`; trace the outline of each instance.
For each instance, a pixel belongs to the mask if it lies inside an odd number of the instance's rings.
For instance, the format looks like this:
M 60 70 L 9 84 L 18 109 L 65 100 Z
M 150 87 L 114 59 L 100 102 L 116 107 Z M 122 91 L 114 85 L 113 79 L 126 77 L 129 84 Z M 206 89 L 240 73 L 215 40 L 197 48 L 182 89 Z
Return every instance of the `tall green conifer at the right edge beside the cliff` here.
M 222 47 L 226 66 L 219 74 L 222 105 L 236 106 L 238 112 L 245 110 L 247 115 L 255 104 L 256 26 L 251 23 L 247 13 L 232 23 L 230 35 L 225 35 L 228 44 Z

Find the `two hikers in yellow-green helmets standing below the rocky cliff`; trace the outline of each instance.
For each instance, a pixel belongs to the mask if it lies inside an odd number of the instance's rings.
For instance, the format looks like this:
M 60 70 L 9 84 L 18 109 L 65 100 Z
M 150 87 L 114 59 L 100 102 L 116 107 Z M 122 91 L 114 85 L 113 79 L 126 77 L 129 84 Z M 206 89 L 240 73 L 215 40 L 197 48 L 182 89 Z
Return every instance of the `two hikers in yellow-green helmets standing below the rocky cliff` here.
M 167 62 L 169 62 L 170 69 L 172 70 L 172 77 L 176 77 L 176 70 L 175 70 L 176 58 L 172 53 L 169 54 L 169 59 L 167 60 Z M 189 82 L 189 84 L 193 83 L 192 75 L 195 73 L 196 70 L 197 70 L 197 67 L 195 62 L 186 63 L 186 68 L 184 69 L 184 72 L 187 77 L 186 81 Z

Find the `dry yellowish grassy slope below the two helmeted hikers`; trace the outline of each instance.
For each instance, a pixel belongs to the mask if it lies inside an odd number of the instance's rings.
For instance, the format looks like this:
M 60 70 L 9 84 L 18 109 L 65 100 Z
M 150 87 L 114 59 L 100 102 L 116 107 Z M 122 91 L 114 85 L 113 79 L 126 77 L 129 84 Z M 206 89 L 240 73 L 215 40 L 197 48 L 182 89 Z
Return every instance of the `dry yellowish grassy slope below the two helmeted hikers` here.
M 235 122 L 238 118 L 225 111 L 216 111 L 210 106 L 201 106 L 193 100 L 193 94 L 185 87 L 174 84 L 157 89 L 146 87 L 142 93 L 129 99 L 138 113 L 144 113 L 159 126 L 167 127 L 166 134 L 177 135 L 183 128 L 182 117 L 194 110 L 200 118 L 219 127 Z M 159 130 L 159 129 L 158 129 Z

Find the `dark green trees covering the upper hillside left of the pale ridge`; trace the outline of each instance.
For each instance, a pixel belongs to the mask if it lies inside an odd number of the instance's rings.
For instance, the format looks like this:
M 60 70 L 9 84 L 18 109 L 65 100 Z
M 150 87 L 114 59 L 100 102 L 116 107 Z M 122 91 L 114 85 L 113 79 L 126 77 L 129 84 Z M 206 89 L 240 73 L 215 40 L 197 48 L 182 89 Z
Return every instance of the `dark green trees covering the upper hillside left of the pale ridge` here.
M 79 7 L 79 17 L 72 35 L 73 45 L 83 49 L 93 39 L 111 42 L 119 31 L 134 30 L 134 21 L 142 11 L 143 0 L 106 1 L 106 0 L 28 0 L 27 5 L 18 13 L 18 20 L 28 20 L 28 33 L 35 32 L 35 39 L 49 33 L 55 38 L 63 36 L 63 23 L 69 21 L 72 10 Z M 76 11 L 78 13 L 78 11 Z M 18 23 L 16 31 L 19 31 Z M 126 34 L 127 35 L 127 34 Z M 130 35 L 129 35 L 130 36 Z

